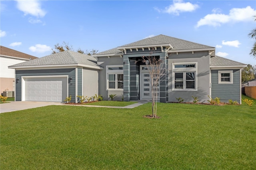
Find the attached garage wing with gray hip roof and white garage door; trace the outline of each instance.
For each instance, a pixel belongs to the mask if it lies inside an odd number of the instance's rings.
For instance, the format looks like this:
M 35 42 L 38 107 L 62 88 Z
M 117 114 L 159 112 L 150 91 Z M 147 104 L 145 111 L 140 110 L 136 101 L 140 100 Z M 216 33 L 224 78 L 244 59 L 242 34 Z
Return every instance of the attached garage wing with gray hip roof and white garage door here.
M 77 95 L 98 94 L 98 71 L 103 69 L 94 57 L 63 51 L 12 65 L 16 72 L 16 101 L 63 102 Z

